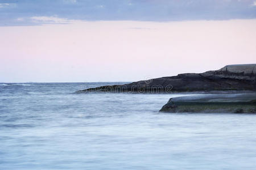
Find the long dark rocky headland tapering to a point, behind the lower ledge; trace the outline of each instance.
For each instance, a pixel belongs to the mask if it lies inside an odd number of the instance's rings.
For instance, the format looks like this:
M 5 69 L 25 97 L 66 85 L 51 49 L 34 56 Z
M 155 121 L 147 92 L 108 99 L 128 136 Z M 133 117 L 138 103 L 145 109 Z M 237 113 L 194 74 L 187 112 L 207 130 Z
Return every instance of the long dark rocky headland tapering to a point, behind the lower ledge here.
M 205 73 L 143 80 L 130 84 L 89 88 L 78 92 L 195 92 L 195 91 L 256 91 L 256 64 L 228 65 Z

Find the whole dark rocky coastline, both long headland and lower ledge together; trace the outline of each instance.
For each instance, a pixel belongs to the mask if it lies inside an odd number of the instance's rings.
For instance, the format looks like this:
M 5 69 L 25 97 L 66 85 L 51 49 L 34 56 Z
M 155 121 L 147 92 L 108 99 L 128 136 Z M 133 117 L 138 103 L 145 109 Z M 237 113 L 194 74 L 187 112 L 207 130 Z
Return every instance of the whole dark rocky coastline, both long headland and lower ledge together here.
M 85 92 L 210 94 L 171 98 L 160 112 L 256 113 L 256 64 L 228 65 L 200 74 L 186 73 L 77 91 Z

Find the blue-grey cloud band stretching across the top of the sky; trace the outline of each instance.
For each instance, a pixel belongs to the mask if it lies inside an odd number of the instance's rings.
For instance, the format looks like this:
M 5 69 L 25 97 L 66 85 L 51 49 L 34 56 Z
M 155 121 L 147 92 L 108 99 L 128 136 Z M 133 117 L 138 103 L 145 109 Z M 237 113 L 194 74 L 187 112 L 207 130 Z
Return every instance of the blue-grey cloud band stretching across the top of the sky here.
M 253 0 L 0 0 L 0 25 L 40 24 L 34 16 L 79 20 L 226 20 L 256 18 Z

